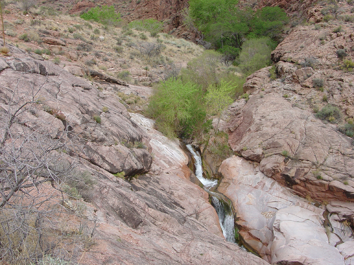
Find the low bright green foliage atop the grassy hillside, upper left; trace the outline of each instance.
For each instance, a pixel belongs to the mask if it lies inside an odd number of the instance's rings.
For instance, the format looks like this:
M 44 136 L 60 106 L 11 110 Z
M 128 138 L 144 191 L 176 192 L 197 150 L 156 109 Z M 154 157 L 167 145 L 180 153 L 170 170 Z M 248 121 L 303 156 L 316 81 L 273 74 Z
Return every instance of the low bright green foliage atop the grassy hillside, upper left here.
M 117 26 L 121 21 L 120 13 L 116 13 L 114 6 L 93 7 L 87 13 L 81 14 L 85 20 L 95 20 L 103 25 Z

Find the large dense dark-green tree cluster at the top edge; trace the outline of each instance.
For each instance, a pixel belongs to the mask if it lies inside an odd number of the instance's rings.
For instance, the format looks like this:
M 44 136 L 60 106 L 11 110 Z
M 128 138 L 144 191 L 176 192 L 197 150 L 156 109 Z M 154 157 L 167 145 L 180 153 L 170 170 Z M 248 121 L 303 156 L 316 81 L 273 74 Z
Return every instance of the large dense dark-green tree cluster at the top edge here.
M 189 15 L 199 35 L 218 48 L 224 45 L 241 48 L 246 36 L 269 36 L 277 41 L 289 21 L 279 7 L 264 7 L 254 13 L 240 10 L 237 0 L 190 0 Z

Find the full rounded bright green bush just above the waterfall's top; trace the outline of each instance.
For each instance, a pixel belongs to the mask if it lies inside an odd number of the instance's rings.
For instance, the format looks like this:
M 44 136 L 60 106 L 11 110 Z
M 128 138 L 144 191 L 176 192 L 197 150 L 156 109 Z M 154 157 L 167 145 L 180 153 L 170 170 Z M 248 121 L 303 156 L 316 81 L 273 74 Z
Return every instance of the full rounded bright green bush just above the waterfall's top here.
M 147 115 L 167 137 L 189 137 L 204 130 L 205 111 L 200 90 L 191 83 L 167 80 L 150 98 Z

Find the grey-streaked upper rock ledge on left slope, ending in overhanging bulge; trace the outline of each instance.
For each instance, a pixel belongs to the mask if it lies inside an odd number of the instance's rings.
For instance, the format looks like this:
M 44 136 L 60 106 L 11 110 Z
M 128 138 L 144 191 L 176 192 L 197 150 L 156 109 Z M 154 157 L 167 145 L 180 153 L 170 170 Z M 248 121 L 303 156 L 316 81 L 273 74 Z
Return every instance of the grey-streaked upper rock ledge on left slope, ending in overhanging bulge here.
M 11 49 L 14 55 L 21 54 L 18 48 Z M 81 157 L 111 173 L 125 171 L 130 176 L 149 171 L 152 157 L 147 150 L 122 146 L 122 142 L 145 142 L 148 149 L 149 136 L 130 120 L 118 98 L 108 99 L 107 92 L 104 95 L 91 82 L 49 61 L 6 57 L 1 58 L 1 65 L 0 96 L 4 108 L 12 95 L 14 101 L 17 95 L 38 100 L 38 106 L 26 116 L 28 126 L 35 123 L 34 128 L 50 129 L 53 136 L 70 127 L 73 134 L 87 141 L 82 145 Z M 30 98 L 32 95 L 34 99 Z M 114 98 L 114 93 L 111 96 Z M 103 107 L 108 111 L 103 112 Z M 94 116 L 99 117 L 99 122 Z

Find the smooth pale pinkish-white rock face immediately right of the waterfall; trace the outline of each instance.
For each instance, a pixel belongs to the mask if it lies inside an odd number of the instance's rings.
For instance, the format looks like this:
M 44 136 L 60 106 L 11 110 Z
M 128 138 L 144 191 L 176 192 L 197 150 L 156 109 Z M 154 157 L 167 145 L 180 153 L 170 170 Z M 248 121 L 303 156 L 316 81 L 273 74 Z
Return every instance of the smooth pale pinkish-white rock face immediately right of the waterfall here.
M 330 218 L 325 229 L 324 209 L 265 176 L 257 162 L 233 156 L 223 161 L 219 171 L 223 179 L 218 191 L 233 202 L 242 242 L 264 260 L 277 265 L 344 264 L 342 250 L 336 246 L 341 242 L 350 245 L 354 238 L 338 219 Z

